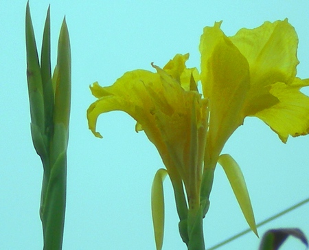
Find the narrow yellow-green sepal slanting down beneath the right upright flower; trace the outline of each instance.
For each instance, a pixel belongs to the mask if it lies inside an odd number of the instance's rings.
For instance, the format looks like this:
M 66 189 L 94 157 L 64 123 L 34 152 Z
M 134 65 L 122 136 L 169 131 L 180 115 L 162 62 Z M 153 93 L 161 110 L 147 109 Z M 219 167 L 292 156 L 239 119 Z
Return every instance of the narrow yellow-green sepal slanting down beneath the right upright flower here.
M 233 189 L 238 204 L 240 205 L 240 209 L 242 209 L 244 218 L 246 218 L 251 230 L 256 236 L 258 236 L 247 185 L 238 163 L 231 157 L 231 155 L 220 155 L 218 163 L 220 163 L 223 170 L 225 170 L 225 174 L 227 175 L 227 179 L 229 179 L 229 183 L 231 184 L 231 188 Z

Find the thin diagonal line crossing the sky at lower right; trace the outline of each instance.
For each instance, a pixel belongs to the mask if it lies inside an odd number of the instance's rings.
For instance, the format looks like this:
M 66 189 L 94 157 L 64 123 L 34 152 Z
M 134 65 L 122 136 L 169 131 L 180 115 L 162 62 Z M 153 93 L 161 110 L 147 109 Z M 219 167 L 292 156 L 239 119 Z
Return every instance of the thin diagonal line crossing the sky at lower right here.
M 284 214 L 296 209 L 297 207 L 300 207 L 301 205 L 304 205 L 305 203 L 309 202 L 309 198 L 306 198 L 304 201 L 301 201 L 299 203 L 297 203 L 296 205 L 293 205 L 292 207 L 288 207 L 287 209 L 285 209 L 282 212 L 279 212 L 278 214 L 275 214 L 274 216 L 271 216 L 270 218 L 267 218 L 266 220 L 263 220 L 262 222 L 258 223 L 256 225 L 256 227 L 260 227 L 262 225 L 265 225 L 266 223 L 271 222 L 271 220 L 275 220 L 276 218 L 279 218 L 280 216 L 283 216 Z M 218 247 L 222 247 L 223 245 L 226 245 L 227 243 L 236 240 L 237 238 L 239 238 L 240 236 L 243 236 L 244 234 L 247 234 L 251 231 L 251 229 L 246 229 L 242 232 L 240 232 L 239 234 L 236 234 L 235 236 L 228 238 L 225 241 L 220 242 L 219 244 L 215 245 L 214 247 L 211 247 L 207 250 L 214 250 L 214 249 L 218 249 Z

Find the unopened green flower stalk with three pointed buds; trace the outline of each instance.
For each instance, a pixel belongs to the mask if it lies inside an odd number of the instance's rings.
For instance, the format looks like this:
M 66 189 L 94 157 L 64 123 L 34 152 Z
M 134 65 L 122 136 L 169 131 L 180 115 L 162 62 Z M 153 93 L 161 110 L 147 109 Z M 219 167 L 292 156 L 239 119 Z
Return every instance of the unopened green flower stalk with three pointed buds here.
M 40 217 L 44 249 L 62 249 L 67 192 L 67 143 L 71 103 L 71 50 L 65 19 L 58 41 L 57 65 L 50 62 L 50 10 L 38 60 L 29 2 L 25 19 L 27 83 L 34 148 L 43 163 Z M 54 85 L 54 86 L 53 86 Z

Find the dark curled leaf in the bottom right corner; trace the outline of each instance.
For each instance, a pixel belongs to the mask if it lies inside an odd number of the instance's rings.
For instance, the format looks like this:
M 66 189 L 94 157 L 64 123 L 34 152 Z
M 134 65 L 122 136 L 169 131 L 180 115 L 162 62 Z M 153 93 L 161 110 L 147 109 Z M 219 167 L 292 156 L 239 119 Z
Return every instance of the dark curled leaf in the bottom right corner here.
M 281 228 L 266 231 L 261 240 L 259 250 L 277 250 L 288 236 L 298 238 L 308 247 L 308 240 L 301 230 L 297 228 Z

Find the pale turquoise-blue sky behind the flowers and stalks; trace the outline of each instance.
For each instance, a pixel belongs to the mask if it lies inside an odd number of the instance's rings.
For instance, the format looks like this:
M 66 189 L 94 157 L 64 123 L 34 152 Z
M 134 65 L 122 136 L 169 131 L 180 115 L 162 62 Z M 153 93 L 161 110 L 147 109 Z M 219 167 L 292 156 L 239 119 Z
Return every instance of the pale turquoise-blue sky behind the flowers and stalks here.
M 241 27 L 289 19 L 299 35 L 298 76 L 309 78 L 309 1 L 71 1 L 32 0 L 38 47 L 51 3 L 52 59 L 62 18 L 71 37 L 72 104 L 68 151 L 67 217 L 63 249 L 155 249 L 150 189 L 163 164 L 144 133 L 124 113 L 102 115 L 95 138 L 86 110 L 95 99 L 89 84 L 113 84 L 125 71 L 153 70 L 177 53 L 190 53 L 199 67 L 203 27 L 223 20 L 233 35 Z M 25 76 L 26 1 L 0 1 L 0 249 L 42 249 L 38 216 L 43 168 L 32 146 Z M 307 91 L 308 93 L 308 91 Z M 309 196 L 309 137 L 277 135 L 256 118 L 247 118 L 223 152 L 240 164 L 257 222 Z M 165 181 L 166 220 L 163 249 L 186 249 L 169 179 Z M 261 227 L 299 227 L 309 236 L 309 205 Z M 207 247 L 247 229 L 227 178 L 216 169 L 211 206 L 204 220 Z M 221 249 L 257 249 L 253 233 Z M 300 247 L 300 248 L 299 248 Z M 289 240 L 283 249 L 304 249 Z

